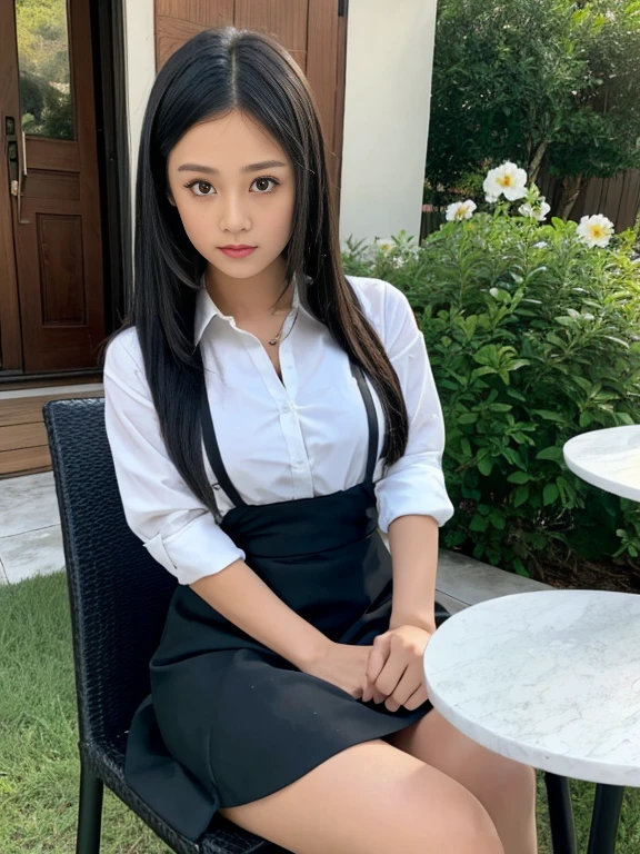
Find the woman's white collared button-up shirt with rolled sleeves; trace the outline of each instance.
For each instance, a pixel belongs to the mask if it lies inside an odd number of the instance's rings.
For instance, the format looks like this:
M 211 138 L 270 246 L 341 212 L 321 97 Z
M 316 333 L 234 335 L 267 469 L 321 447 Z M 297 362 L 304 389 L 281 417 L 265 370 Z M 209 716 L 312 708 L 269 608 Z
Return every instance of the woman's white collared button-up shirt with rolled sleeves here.
M 444 426 L 424 337 L 407 297 L 394 286 L 348 279 L 398 374 L 410 419 L 406 454 L 383 477 L 379 458 L 373 474 L 380 529 L 387 533 L 393 519 L 407 514 L 432 516 L 441 526 L 453 506 L 442 474 Z M 280 342 L 282 381 L 259 339 L 222 315 L 204 288 L 198 294 L 194 337 L 196 342 L 201 339 L 220 454 L 247 504 L 312 498 L 363 480 L 369 434 L 361 394 L 347 354 L 304 308 L 297 288 Z M 107 435 L 124 514 L 149 553 L 180 584 L 244 559 L 169 459 L 134 328 L 109 345 L 103 383 Z M 380 455 L 384 419 L 371 383 L 369 387 L 380 425 Z M 224 516 L 232 504 L 203 446 L 202 453 Z

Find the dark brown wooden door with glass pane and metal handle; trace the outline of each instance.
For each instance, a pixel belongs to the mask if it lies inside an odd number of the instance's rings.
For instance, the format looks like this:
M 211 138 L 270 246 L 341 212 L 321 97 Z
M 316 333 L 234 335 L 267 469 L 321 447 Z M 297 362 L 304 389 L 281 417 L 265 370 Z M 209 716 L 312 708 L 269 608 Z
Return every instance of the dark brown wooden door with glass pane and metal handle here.
M 0 2 L 2 371 L 96 366 L 104 338 L 89 0 Z

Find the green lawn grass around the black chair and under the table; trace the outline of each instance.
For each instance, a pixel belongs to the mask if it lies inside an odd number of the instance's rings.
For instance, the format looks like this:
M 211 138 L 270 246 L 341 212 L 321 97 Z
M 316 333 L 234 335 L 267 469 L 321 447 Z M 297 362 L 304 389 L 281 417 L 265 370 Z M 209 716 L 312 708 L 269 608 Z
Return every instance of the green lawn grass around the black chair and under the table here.
M 598 698 L 593 697 L 593 702 Z M 73 854 L 78 774 L 67 583 L 63 573 L 57 573 L 0 588 L 2 854 Z M 540 854 L 551 854 L 542 775 L 539 784 Z M 587 848 L 593 788 L 588 783 L 572 783 L 581 851 Z M 617 854 L 636 854 L 639 850 L 640 792 L 628 791 Z M 114 795 L 106 792 L 103 854 L 168 851 Z

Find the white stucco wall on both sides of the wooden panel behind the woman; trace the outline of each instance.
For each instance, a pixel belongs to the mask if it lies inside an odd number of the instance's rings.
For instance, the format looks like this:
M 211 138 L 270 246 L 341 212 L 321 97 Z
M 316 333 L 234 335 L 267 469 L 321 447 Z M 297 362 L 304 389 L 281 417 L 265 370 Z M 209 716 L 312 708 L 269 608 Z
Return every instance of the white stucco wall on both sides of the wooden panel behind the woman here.
M 420 234 L 437 0 L 349 0 L 340 238 Z M 153 0 L 126 0 L 132 193 L 156 76 Z

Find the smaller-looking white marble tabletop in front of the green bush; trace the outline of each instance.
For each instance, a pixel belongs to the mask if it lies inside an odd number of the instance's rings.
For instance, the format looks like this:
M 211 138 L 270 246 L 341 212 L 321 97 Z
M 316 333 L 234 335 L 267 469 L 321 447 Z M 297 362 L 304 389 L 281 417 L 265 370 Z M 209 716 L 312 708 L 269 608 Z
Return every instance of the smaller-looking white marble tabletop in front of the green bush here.
M 640 424 L 582 433 L 562 450 L 567 466 L 588 484 L 640 502 Z

